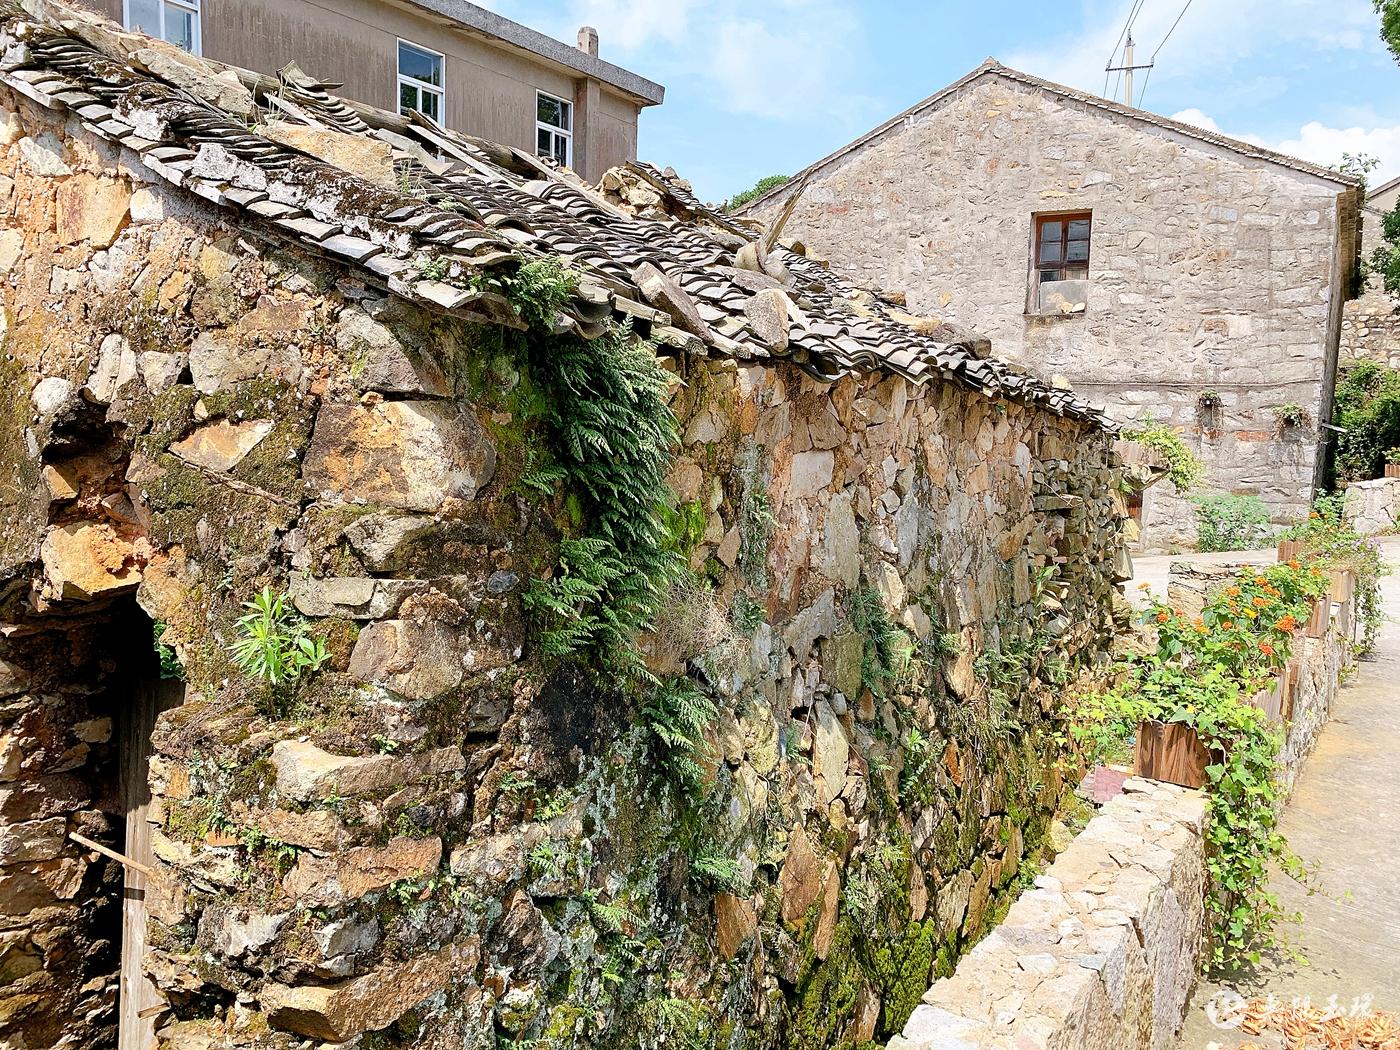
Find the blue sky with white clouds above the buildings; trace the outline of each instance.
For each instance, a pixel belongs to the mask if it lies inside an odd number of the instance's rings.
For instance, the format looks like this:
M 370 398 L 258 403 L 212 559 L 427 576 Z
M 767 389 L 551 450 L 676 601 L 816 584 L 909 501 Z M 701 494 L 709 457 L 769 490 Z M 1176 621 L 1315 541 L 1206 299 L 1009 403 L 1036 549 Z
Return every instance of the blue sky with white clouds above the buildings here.
M 720 200 L 791 174 L 934 94 L 987 56 L 1103 91 L 1137 0 L 487 0 L 666 85 L 638 153 Z M 1344 150 L 1400 175 L 1400 66 L 1371 0 L 1141 0 L 1142 106 L 1322 164 Z M 1163 45 L 1165 39 L 1165 45 Z M 1141 74 L 1138 74 L 1141 77 Z M 1138 81 L 1141 85 L 1141 80 Z

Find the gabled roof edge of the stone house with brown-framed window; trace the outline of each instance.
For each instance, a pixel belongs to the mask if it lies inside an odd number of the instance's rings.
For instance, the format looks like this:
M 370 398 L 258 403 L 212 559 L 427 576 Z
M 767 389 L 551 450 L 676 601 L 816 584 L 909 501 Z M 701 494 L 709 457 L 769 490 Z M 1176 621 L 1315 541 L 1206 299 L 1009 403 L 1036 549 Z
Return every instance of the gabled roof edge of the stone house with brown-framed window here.
M 869 132 L 858 139 L 851 140 L 841 148 L 829 153 L 818 161 L 813 161 L 802 171 L 797 172 L 784 182 L 781 186 L 774 186 L 767 193 L 755 197 L 742 209 L 739 214 L 749 214 L 766 204 L 777 203 L 785 199 L 785 196 L 797 189 L 804 181 L 811 179 L 813 175 L 822 172 L 823 169 L 837 164 L 839 161 L 850 157 L 858 150 L 879 141 L 886 134 L 897 130 L 902 125 L 907 123 L 911 118 L 918 116 L 930 109 L 937 109 L 939 105 L 946 102 L 949 98 L 955 97 L 963 88 L 969 87 L 973 81 L 980 80 L 986 76 L 1000 76 L 1005 80 L 1019 83 L 1025 87 L 1036 88 L 1039 91 L 1049 91 L 1051 94 L 1063 95 L 1064 98 L 1074 99 L 1081 105 L 1086 105 L 1093 109 L 1103 111 L 1107 116 L 1121 118 L 1127 120 L 1134 120 L 1137 123 L 1149 125 L 1165 132 L 1173 132 L 1176 134 L 1183 134 L 1189 139 L 1196 139 L 1197 141 L 1205 143 L 1207 146 L 1215 146 L 1218 148 L 1229 150 L 1242 157 L 1249 157 L 1250 160 L 1263 161 L 1266 164 L 1273 164 L 1280 168 L 1288 168 L 1303 175 L 1312 175 L 1315 178 L 1324 179 L 1327 182 L 1338 183 L 1345 189 L 1359 189 L 1361 179 L 1354 175 L 1343 175 L 1338 171 L 1326 168 L 1320 164 L 1313 164 L 1310 161 L 1301 160 L 1298 157 L 1289 157 L 1284 153 L 1277 153 L 1268 150 L 1263 146 L 1254 146 L 1253 143 L 1246 143 L 1240 139 L 1232 139 L 1228 134 L 1221 134 L 1218 132 L 1210 132 L 1204 127 L 1196 127 L 1194 125 L 1184 123 L 1182 120 L 1173 120 L 1169 116 L 1161 116 L 1152 113 L 1147 109 L 1135 109 L 1133 106 L 1123 105 L 1121 102 L 1114 102 L 1099 95 L 1093 95 L 1088 91 L 1079 91 L 1078 88 L 1067 87 L 1065 84 L 1056 84 L 1051 80 L 1044 80 L 1030 73 L 1022 73 L 1011 66 L 1004 66 L 997 59 L 987 59 L 977 69 L 972 70 L 963 77 L 959 77 L 948 87 L 941 91 L 934 92 L 928 98 L 916 102 L 903 112 L 896 113 L 883 123 L 872 127 Z

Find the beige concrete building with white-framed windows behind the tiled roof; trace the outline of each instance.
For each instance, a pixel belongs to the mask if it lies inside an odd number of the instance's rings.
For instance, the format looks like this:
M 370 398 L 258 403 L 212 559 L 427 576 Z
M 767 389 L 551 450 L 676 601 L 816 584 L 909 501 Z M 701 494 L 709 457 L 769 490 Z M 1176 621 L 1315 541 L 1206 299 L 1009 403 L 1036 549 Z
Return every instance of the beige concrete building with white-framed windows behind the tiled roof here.
M 535 150 L 585 179 L 637 158 L 665 88 L 466 0 L 87 0 L 127 28 L 259 73 L 295 60 L 379 109 Z

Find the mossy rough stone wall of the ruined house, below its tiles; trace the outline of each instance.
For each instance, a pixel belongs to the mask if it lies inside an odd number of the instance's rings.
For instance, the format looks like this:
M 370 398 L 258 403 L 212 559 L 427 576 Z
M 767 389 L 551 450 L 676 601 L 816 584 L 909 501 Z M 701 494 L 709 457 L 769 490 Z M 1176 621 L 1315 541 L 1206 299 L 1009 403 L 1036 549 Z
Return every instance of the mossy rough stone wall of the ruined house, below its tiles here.
M 113 1044 L 119 872 L 64 834 L 139 819 L 104 720 L 153 623 L 186 697 L 140 811 L 161 1046 L 899 1030 L 1061 797 L 1127 573 L 1110 437 L 673 363 L 694 575 L 641 648 L 717 706 L 690 795 L 661 693 L 535 644 L 580 507 L 532 484 L 538 360 L 4 106 L 0 1039 Z M 230 657 L 265 587 L 329 652 L 297 687 Z

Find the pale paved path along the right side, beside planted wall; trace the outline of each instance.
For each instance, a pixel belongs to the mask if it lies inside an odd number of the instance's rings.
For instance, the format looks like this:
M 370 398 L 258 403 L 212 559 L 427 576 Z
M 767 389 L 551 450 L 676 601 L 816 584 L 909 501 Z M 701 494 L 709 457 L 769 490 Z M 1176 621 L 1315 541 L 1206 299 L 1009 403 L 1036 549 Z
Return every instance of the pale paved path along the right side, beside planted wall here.
M 1400 570 L 1400 540 L 1385 546 L 1386 560 Z M 1165 592 L 1156 584 L 1165 581 L 1169 561 L 1142 559 L 1138 578 Z M 1306 997 L 1326 1007 L 1336 995 L 1343 1009 L 1369 997 L 1379 1009 L 1400 1011 L 1400 571 L 1382 580 L 1382 589 L 1390 619 L 1376 654 L 1359 664 L 1357 679 L 1341 690 L 1282 819 L 1294 850 L 1316 862 L 1324 890 L 1309 896 L 1284 876 L 1273 886 L 1287 910 L 1303 913 L 1302 925 L 1285 927 L 1284 935 L 1309 965 L 1268 958 L 1254 973 L 1203 981 L 1179 1050 L 1204 1050 L 1211 1043 L 1282 1046 L 1268 1035 L 1246 1037 L 1214 1025 L 1207 1007 L 1228 991 L 1246 998 L 1274 995 L 1281 1005 Z

